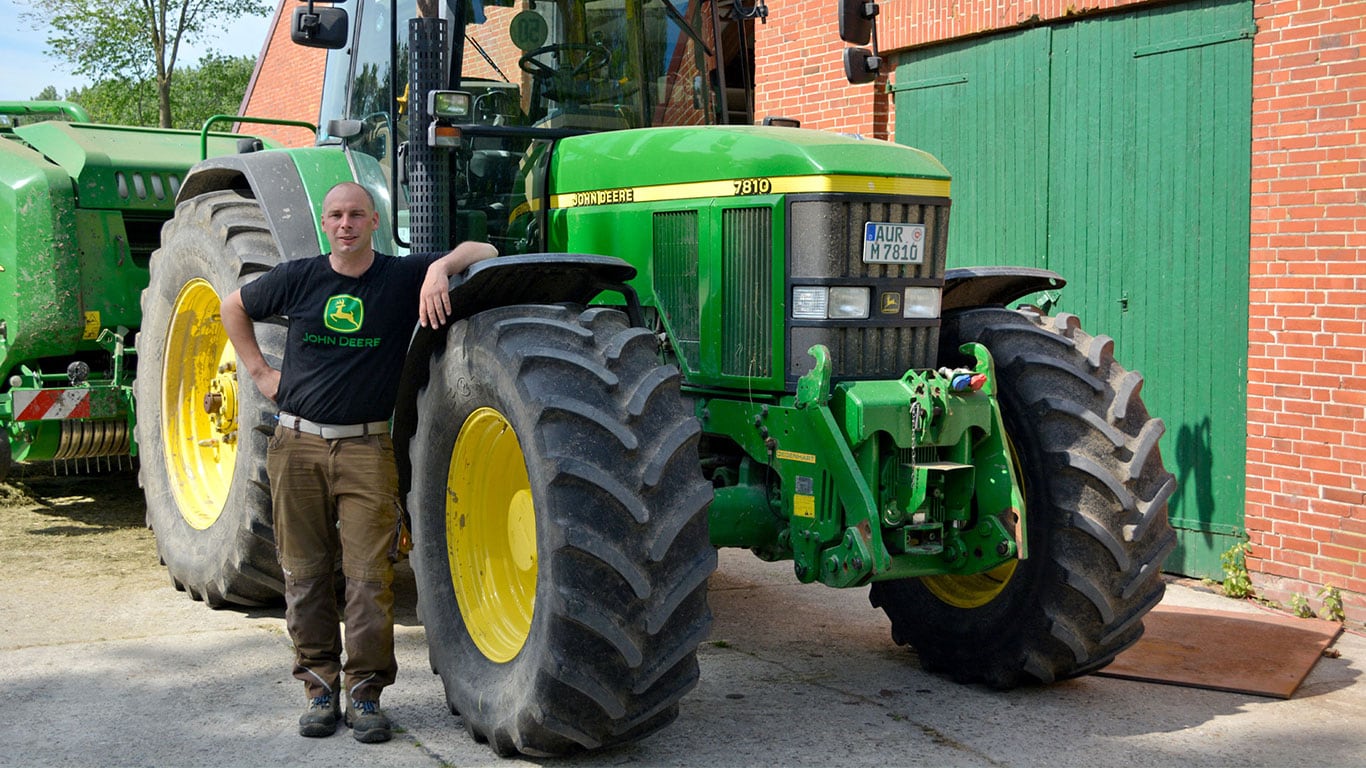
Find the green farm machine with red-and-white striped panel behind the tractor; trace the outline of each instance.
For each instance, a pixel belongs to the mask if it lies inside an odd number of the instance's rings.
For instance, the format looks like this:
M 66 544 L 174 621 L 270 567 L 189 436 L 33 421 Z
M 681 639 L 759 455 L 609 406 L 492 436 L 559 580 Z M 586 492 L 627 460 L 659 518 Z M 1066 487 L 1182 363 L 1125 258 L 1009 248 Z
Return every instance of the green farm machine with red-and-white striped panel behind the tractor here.
M 133 465 L 148 261 L 190 167 L 240 142 L 258 143 L 0 102 L 0 480 L 15 462 Z

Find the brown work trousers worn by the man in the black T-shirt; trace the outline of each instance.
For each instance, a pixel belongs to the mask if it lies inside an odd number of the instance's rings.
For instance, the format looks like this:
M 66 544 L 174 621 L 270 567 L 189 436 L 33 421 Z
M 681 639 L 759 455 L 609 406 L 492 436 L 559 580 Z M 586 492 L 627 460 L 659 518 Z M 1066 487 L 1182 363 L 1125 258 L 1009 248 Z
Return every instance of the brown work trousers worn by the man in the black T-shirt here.
M 337 691 L 378 700 L 399 671 L 393 656 L 393 562 L 399 474 L 388 435 L 324 440 L 276 426 L 266 452 L 275 544 L 284 570 L 294 676 L 309 697 Z M 346 666 L 333 581 L 346 575 Z

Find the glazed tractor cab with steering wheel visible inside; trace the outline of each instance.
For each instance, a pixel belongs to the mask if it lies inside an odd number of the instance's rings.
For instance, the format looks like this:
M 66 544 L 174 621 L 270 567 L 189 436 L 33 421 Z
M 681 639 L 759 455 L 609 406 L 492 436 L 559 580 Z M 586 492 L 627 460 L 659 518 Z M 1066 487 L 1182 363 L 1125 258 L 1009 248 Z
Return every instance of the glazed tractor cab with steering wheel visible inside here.
M 301 7 L 294 40 L 332 48 L 320 138 L 346 142 L 358 178 L 388 190 L 400 246 L 411 241 L 410 201 L 426 198 L 414 194 L 410 171 L 429 148 L 448 156 L 438 165 L 449 202 L 434 212 L 451 223 L 445 239 L 488 239 L 501 253 L 526 253 L 544 246 L 531 201 L 535 159 L 552 142 L 624 128 L 753 123 L 754 14 L 734 0 L 347 5 L 351 16 L 342 5 Z M 444 36 L 410 25 L 433 18 L 444 19 Z M 413 61 L 438 72 L 417 97 Z M 432 93 L 441 98 L 428 104 Z M 436 130 L 414 134 L 418 111 L 429 111 L 423 124 L 433 120 Z

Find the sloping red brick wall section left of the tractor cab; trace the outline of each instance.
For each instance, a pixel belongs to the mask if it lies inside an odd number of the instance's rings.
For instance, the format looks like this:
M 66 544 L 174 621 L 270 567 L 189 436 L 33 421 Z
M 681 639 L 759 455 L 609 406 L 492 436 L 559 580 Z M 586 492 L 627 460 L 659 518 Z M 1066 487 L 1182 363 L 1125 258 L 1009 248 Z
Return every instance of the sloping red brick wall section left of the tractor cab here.
M 261 48 L 239 115 L 316 123 L 322 100 L 322 66 L 326 51 L 290 41 L 290 18 L 298 3 L 280 0 L 270 37 Z M 311 146 L 305 128 L 243 124 L 246 133 L 279 141 L 284 146 Z

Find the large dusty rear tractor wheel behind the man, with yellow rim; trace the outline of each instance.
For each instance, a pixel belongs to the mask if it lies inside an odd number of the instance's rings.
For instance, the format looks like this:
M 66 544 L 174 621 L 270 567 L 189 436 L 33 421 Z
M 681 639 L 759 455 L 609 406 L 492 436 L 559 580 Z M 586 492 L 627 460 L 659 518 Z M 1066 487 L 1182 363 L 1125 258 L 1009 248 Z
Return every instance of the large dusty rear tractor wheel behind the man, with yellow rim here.
M 214 191 L 182 202 L 163 227 L 138 335 L 138 481 L 148 525 L 178 589 L 217 608 L 273 603 L 284 590 L 270 526 L 265 448 L 275 404 L 235 362 L 217 301 L 279 261 L 257 201 Z M 257 325 L 275 365 L 284 328 Z M 204 410 L 217 383 L 235 391 L 235 440 Z M 221 411 L 220 411 L 221 413 Z

